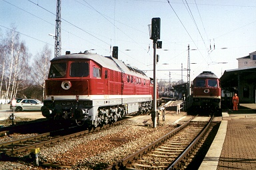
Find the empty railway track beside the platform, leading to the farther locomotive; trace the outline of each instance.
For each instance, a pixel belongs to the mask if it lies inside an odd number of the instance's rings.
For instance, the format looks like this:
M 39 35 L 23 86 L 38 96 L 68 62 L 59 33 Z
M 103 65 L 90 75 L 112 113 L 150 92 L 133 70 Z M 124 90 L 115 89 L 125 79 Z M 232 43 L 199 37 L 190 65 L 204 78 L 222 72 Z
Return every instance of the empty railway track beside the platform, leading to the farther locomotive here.
M 182 169 L 211 124 L 189 122 L 107 169 Z

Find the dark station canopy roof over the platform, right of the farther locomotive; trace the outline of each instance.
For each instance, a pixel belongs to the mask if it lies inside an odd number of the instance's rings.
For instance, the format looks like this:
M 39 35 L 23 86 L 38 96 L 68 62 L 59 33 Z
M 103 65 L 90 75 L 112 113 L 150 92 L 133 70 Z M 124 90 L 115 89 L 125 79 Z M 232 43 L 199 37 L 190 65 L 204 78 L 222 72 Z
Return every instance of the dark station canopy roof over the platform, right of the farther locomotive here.
M 243 81 L 248 84 L 255 83 L 256 80 L 256 67 L 237 68 L 233 70 L 225 70 L 220 78 L 221 87 L 229 88 L 238 86 L 238 82 Z

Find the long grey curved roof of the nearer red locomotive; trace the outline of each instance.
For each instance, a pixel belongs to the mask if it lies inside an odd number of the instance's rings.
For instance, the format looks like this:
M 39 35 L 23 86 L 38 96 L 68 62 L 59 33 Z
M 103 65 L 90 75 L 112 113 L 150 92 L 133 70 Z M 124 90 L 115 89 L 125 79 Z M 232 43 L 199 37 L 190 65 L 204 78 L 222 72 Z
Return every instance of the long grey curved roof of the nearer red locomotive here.
M 67 59 L 89 59 L 89 60 L 94 60 L 95 62 L 101 64 L 101 66 L 105 68 L 109 68 L 111 70 L 119 71 L 119 72 L 125 72 L 126 74 L 131 74 L 134 76 L 139 76 L 139 77 L 147 77 L 147 75 L 132 66 L 129 66 L 122 62 L 121 60 L 118 60 L 116 58 L 113 58 L 111 56 L 102 56 L 99 54 L 91 53 L 91 52 L 84 52 L 84 53 L 77 53 L 77 54 L 66 54 L 66 55 L 61 55 L 53 58 L 51 60 L 67 60 Z

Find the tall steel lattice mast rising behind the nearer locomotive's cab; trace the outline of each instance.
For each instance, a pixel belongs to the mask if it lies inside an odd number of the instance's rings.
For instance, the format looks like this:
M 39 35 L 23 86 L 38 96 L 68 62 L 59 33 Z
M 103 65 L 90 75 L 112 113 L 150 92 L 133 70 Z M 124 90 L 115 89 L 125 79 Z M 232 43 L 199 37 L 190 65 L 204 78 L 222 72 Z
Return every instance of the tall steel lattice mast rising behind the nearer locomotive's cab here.
M 57 0 L 55 27 L 55 57 L 61 55 L 61 0 Z

